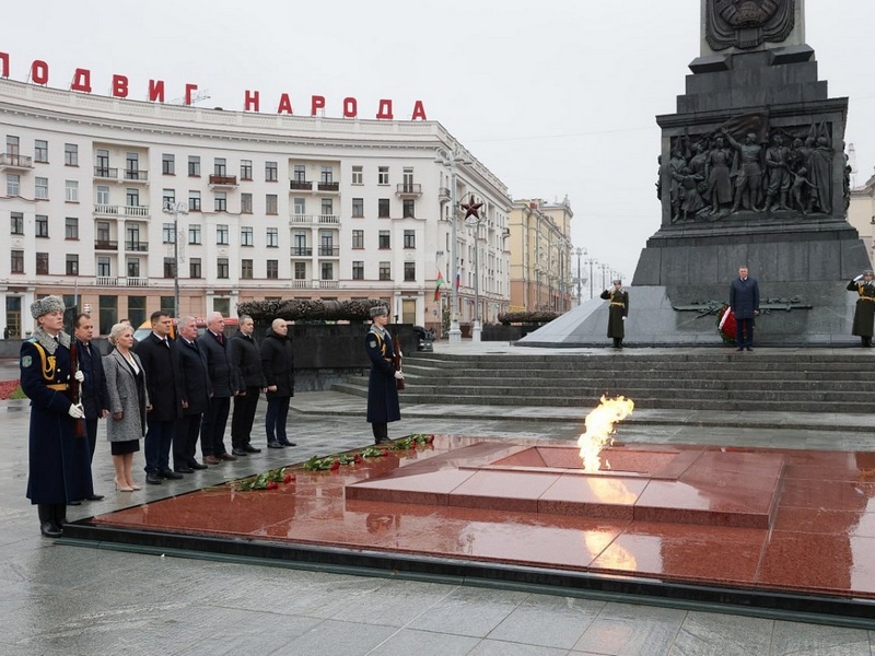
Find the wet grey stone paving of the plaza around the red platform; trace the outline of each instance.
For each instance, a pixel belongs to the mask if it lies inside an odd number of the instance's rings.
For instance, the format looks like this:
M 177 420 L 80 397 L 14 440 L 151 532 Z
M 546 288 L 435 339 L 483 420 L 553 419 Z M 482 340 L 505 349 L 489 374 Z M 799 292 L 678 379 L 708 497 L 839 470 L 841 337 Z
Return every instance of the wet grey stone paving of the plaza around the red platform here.
M 444 351 L 495 352 L 494 344 Z M 763 350 L 765 351 L 765 350 Z M 573 356 L 562 351 L 558 356 Z M 0 379 L 15 377 L 14 362 Z M 130 507 L 371 442 L 364 399 L 331 391 L 294 397 L 293 449 L 267 450 L 133 493 L 114 492 L 109 449 L 98 442 L 95 490 L 102 502 L 68 517 Z M 264 403 L 256 425 L 261 425 Z M 389 435 L 442 433 L 574 440 L 585 410 L 404 407 Z M 744 417 L 635 411 L 617 437 L 629 443 L 719 444 L 875 450 L 875 418 Z M 459 581 L 373 577 L 145 555 L 66 546 L 39 536 L 24 499 L 26 401 L 0 401 L 0 654 L 417 654 L 699 655 L 875 654 L 875 632 L 646 606 L 622 599 L 565 597 L 556 590 L 483 588 Z M 264 446 L 262 433 L 254 443 Z M 142 452 L 135 459 L 142 482 Z

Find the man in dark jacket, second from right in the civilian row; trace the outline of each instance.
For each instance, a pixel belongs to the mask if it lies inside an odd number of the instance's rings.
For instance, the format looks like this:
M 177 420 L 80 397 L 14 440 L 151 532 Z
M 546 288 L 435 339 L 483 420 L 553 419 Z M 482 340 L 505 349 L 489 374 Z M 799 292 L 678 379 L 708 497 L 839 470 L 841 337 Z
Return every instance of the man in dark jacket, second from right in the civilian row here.
M 237 380 L 234 413 L 231 415 L 231 453 L 235 456 L 260 453 L 250 444 L 258 396 L 267 387 L 261 371 L 261 348 L 255 341 L 255 321 L 247 315 L 240 317 L 237 333 L 231 342 L 231 362 Z

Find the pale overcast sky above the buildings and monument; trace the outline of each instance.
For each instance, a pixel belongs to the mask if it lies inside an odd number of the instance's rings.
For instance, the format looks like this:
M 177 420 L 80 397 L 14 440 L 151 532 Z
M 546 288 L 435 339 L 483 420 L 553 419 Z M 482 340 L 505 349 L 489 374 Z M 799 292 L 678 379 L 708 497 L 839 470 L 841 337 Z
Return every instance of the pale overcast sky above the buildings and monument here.
M 806 40 L 830 96 L 849 96 L 847 141 L 856 184 L 875 165 L 875 2 L 807 0 Z M 396 118 L 421 99 L 514 198 L 561 200 L 572 239 L 631 279 L 660 226 L 657 114 L 675 112 L 687 65 L 699 55 L 699 0 L 52 0 L 7 3 L 0 51 L 24 81 L 34 59 L 66 89 L 77 67 L 93 93 L 114 73 L 130 97 L 150 79 L 167 97 L 187 82 L 201 106 L 261 112 L 288 93 L 298 115 L 312 95 L 339 117 L 353 96 L 361 118 L 381 98 Z

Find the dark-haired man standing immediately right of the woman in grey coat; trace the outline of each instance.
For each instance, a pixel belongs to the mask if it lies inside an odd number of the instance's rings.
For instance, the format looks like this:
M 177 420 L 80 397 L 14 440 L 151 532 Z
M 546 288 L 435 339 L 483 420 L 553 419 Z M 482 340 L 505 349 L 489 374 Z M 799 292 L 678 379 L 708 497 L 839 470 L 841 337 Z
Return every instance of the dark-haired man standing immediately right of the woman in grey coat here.
M 162 479 L 180 479 L 171 469 L 176 422 L 183 415 L 183 388 L 179 353 L 170 339 L 173 319 L 163 309 L 150 317 L 152 332 L 137 344 L 136 353 L 143 364 L 145 385 L 152 410 L 145 415 L 145 482 L 160 485 Z

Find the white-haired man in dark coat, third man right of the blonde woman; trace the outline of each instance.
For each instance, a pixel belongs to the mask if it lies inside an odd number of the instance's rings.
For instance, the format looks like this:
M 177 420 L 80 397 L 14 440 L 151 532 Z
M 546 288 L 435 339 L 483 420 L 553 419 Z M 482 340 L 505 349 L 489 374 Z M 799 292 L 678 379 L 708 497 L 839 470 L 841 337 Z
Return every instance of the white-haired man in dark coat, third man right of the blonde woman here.
M 198 348 L 207 359 L 212 398 L 210 408 L 200 423 L 200 448 L 203 461 L 218 465 L 222 460 L 236 460 L 225 448 L 225 426 L 231 413 L 231 397 L 236 394 L 236 374 L 231 366 L 231 353 L 224 335 L 225 319 L 214 312 L 207 318 L 207 331 L 198 339 Z

